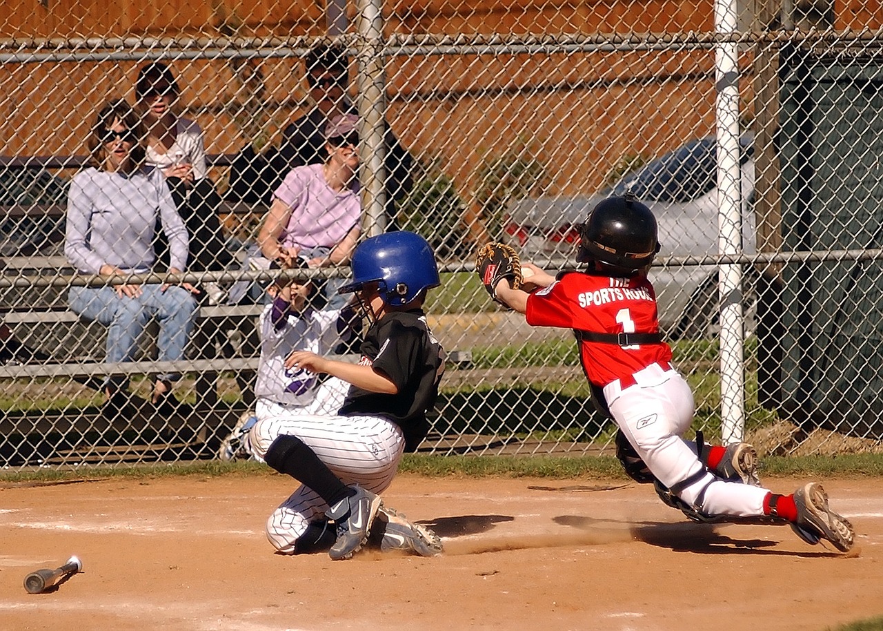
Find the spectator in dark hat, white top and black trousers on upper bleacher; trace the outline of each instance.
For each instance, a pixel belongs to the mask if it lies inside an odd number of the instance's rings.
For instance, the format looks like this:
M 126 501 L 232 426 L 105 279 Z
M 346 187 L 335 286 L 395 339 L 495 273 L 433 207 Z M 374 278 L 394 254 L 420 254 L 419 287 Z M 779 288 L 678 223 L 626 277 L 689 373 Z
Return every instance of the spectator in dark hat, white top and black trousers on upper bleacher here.
M 202 129 L 189 118 L 177 115 L 180 95 L 170 69 L 160 62 L 145 65 L 135 83 L 136 107 L 147 125 L 147 164 L 166 177 L 190 237 L 190 270 L 229 270 L 234 258 L 224 245 L 218 207 L 221 197 L 208 178 Z M 156 254 L 162 260 L 168 242 L 157 232 Z M 202 287 L 209 304 L 226 300 L 222 286 L 208 282 Z

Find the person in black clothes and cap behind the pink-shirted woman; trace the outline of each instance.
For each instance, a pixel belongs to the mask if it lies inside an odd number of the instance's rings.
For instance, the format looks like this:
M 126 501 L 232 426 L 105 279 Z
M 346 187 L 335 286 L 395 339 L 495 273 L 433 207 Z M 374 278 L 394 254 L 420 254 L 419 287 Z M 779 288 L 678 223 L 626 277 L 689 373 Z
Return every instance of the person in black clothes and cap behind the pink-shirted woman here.
M 284 128 L 279 148 L 268 150 L 266 156 L 256 154 L 251 145 L 238 154 L 230 167 L 230 199 L 270 205 L 273 192 L 289 171 L 325 162 L 328 156 L 324 133 L 328 122 L 343 114 L 357 113 L 346 95 L 350 61 L 342 45 L 321 42 L 306 54 L 304 63 L 312 109 Z M 389 125 L 385 127 L 384 140 L 389 230 L 395 228 L 395 201 L 411 191 L 414 161 Z M 257 186 L 263 189 L 255 190 Z

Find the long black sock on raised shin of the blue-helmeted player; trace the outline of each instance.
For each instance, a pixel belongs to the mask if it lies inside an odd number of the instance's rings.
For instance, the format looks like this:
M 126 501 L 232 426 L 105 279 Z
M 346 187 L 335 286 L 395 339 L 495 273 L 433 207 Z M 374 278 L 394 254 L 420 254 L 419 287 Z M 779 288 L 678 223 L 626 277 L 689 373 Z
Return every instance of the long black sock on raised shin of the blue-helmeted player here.
M 316 452 L 296 436 L 276 437 L 267 450 L 264 461 L 279 473 L 291 475 L 299 483 L 316 491 L 328 506 L 334 506 L 343 498 L 356 494 L 356 490 L 341 482 L 319 460 Z

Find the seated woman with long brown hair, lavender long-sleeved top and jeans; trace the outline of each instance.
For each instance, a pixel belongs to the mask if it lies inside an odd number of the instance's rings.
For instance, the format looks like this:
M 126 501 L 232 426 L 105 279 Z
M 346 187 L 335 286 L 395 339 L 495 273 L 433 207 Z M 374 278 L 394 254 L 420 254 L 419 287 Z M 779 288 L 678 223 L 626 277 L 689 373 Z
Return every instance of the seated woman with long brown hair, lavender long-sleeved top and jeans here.
M 143 274 L 156 261 L 153 245 L 157 222 L 169 239 L 169 271 L 187 263 L 187 230 L 177 213 L 162 171 L 145 164 L 144 126 L 125 100 L 105 105 L 89 135 L 89 166 L 71 181 L 64 254 L 80 274 L 104 277 Z M 184 359 L 192 331 L 197 293 L 191 285 L 104 285 L 72 287 L 73 311 L 107 325 L 108 362 L 132 361 L 148 320 L 160 324 L 160 361 Z M 152 400 L 157 407 L 171 400 L 178 375 L 157 376 Z M 112 410 L 125 400 L 125 379 L 109 377 L 105 390 Z

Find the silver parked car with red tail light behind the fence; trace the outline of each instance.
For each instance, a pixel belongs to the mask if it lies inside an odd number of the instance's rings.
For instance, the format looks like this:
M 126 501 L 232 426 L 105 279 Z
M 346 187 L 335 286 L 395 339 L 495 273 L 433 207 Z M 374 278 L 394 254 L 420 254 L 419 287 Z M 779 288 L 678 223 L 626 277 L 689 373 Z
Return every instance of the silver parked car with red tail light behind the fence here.
M 753 213 L 754 160 L 751 136 L 740 141 L 743 250 L 755 252 Z M 718 252 L 718 188 L 716 141 L 690 141 L 660 156 L 594 194 L 546 195 L 510 204 L 504 226 L 509 241 L 527 260 L 572 259 L 577 225 L 592 207 L 611 195 L 634 193 L 656 216 L 662 246 L 668 256 L 716 255 Z M 748 315 L 754 306 L 756 274 L 745 267 L 743 284 Z M 672 337 L 701 337 L 717 324 L 717 269 L 711 265 L 654 266 L 660 325 Z M 751 323 L 749 323 L 751 325 Z

